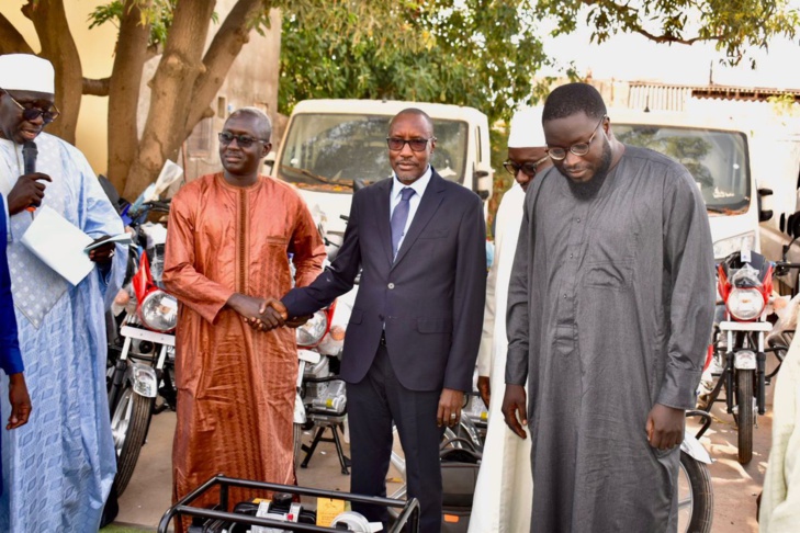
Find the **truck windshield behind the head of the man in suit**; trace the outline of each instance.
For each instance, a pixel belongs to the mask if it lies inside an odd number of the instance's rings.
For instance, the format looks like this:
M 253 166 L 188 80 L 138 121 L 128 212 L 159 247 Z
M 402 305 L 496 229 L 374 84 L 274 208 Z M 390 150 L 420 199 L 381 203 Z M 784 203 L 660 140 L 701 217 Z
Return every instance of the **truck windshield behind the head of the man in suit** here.
M 352 192 L 392 174 L 386 133 L 388 115 L 308 113 L 292 117 L 274 174 L 301 189 Z M 437 137 L 431 165 L 442 178 L 460 182 L 466 161 L 466 123 L 433 118 Z

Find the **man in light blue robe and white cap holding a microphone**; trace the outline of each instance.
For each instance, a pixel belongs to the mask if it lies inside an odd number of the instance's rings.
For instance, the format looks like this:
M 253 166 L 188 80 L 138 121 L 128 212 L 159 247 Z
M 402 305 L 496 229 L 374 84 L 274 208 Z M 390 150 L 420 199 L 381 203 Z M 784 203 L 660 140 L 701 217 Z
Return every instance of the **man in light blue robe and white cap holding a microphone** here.
M 123 231 L 89 162 L 42 133 L 58 111 L 49 61 L 0 56 L 0 193 L 8 201 L 12 294 L 20 348 L 35 406 L 26 426 L 2 432 L 0 531 L 97 531 L 116 472 L 105 393 L 104 309 L 124 273 L 123 247 L 90 253 L 95 268 L 74 286 L 20 242 L 47 206 L 93 238 Z M 36 143 L 36 172 L 22 147 Z M 108 296 L 108 297 L 106 297 Z M 8 389 L 0 386 L 3 410 Z

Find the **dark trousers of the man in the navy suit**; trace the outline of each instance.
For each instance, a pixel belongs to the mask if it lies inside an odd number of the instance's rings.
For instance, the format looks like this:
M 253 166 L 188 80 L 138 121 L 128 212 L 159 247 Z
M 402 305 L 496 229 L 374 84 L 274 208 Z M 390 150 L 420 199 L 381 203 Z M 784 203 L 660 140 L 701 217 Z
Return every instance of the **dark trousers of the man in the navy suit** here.
M 416 392 L 397 381 L 386 348 L 378 349 L 375 361 L 360 383 L 347 384 L 352 474 L 350 491 L 386 496 L 386 474 L 392 455 L 392 421 L 406 458 L 408 497 L 421 508 L 420 532 L 438 533 L 442 520 L 439 442 L 444 428 L 436 424 L 439 390 Z M 352 504 L 371 522 L 388 520 L 385 508 Z

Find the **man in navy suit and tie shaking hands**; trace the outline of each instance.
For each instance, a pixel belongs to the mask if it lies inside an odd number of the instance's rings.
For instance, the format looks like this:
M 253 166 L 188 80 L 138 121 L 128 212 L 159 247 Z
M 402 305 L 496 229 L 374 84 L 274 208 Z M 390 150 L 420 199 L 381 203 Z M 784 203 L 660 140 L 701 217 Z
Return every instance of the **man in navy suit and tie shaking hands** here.
M 481 200 L 430 166 L 433 125 L 407 109 L 391 122 L 392 179 L 353 195 L 345 241 L 314 283 L 271 300 L 272 319 L 311 315 L 350 291 L 341 377 L 347 382 L 351 491 L 386 495 L 392 422 L 421 531 L 441 528 L 439 442 L 461 416 L 481 341 L 486 228 Z M 281 314 L 278 317 L 278 313 Z M 274 321 L 272 324 L 274 324 Z M 385 509 L 353 503 L 371 521 Z

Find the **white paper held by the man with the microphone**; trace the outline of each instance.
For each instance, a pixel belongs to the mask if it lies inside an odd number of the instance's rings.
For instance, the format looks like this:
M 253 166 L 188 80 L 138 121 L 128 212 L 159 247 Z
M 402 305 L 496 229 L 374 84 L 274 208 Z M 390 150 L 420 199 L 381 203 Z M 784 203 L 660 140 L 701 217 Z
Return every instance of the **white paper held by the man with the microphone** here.
M 20 241 L 72 285 L 80 283 L 94 268 L 83 251 L 94 239 L 46 205 L 36 209 L 36 216 Z

